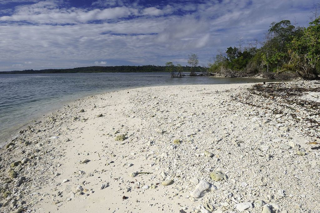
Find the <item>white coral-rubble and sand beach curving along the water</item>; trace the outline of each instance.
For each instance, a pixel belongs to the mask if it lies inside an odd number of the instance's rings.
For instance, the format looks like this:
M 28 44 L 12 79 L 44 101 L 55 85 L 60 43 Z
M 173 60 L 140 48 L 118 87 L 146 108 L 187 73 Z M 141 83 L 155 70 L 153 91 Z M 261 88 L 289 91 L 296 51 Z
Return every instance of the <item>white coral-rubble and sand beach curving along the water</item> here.
M 252 85 L 122 90 L 37 120 L 1 150 L 0 212 L 320 212 L 319 114 Z

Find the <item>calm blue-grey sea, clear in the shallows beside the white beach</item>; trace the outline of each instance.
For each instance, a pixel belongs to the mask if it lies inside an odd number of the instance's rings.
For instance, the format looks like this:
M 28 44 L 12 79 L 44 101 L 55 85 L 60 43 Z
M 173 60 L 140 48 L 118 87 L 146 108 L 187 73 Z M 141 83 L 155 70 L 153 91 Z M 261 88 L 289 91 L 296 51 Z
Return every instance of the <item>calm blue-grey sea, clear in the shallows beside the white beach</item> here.
M 188 74 L 188 73 L 186 73 Z M 253 83 L 252 78 L 170 78 L 169 73 L 0 75 L 0 147 L 32 120 L 89 95 L 160 85 Z

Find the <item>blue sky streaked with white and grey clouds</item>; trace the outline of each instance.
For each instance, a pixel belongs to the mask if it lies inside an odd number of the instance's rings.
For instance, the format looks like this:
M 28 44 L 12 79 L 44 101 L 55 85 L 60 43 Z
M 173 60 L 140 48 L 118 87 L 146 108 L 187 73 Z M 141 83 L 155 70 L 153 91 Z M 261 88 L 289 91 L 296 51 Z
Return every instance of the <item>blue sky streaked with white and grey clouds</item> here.
M 84 66 L 206 66 L 263 41 L 273 21 L 307 26 L 316 0 L 0 0 L 0 71 Z

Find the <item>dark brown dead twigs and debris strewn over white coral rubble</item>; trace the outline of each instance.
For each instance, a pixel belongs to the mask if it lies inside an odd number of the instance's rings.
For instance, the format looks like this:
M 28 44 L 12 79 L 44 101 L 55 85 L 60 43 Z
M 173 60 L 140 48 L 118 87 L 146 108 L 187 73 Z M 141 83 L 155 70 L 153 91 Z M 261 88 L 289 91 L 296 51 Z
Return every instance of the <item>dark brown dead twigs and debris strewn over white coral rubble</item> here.
M 277 123 L 300 127 L 306 135 L 315 137 L 320 133 L 320 95 L 314 93 L 319 92 L 320 81 L 268 83 L 256 84 L 232 98 L 259 111 L 271 112 Z

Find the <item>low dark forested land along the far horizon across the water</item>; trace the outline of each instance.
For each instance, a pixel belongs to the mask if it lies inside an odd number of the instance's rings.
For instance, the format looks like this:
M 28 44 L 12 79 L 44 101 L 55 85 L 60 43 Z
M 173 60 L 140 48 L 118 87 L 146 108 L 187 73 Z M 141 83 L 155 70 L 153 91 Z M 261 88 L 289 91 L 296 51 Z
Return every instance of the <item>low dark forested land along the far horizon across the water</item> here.
M 201 68 L 199 66 L 199 68 Z M 182 72 L 190 72 L 191 67 L 182 66 Z M 3 71 L 0 74 L 43 74 L 43 73 L 97 73 L 97 72 L 165 72 L 166 66 L 92 66 L 72 69 L 45 69 L 45 70 L 13 70 Z

